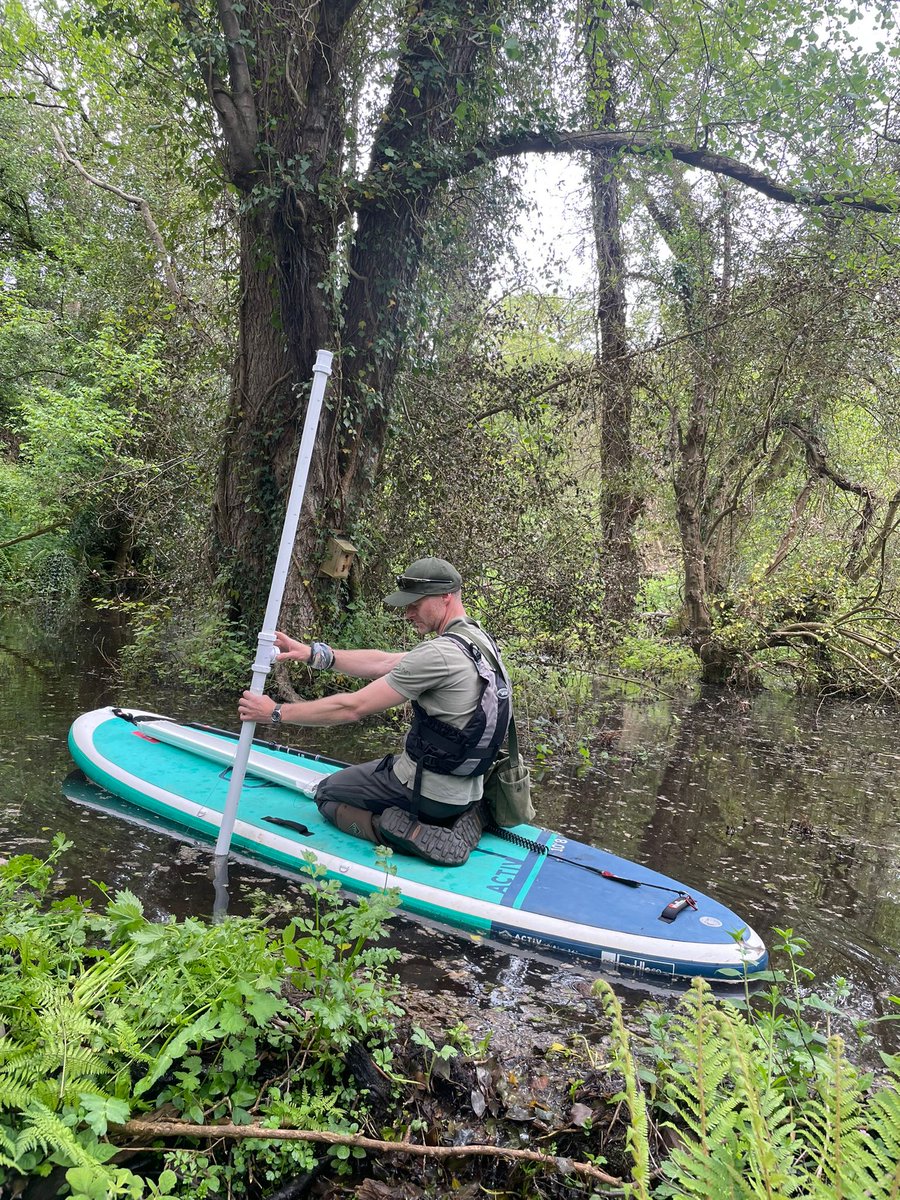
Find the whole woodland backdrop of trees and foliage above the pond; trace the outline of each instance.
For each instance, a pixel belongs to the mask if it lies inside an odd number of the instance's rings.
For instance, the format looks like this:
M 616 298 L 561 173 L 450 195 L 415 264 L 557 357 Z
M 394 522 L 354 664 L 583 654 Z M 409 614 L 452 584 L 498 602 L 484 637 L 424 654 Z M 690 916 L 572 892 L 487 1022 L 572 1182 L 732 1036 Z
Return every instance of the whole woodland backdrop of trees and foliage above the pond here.
M 317 574 L 330 533 L 376 576 L 426 529 L 571 624 L 523 562 L 558 559 L 563 578 L 568 547 L 606 637 L 674 572 L 668 607 L 710 676 L 791 638 L 821 649 L 864 584 L 883 605 L 900 503 L 889 2 L 4 10 L 0 542 L 19 570 L 47 538 L 78 557 L 35 530 L 103 529 L 82 565 L 163 589 L 205 572 L 252 622 L 328 347 L 287 596 L 301 626 L 366 593 L 358 572 Z M 565 218 L 593 226 L 596 293 L 558 310 L 562 355 L 527 304 L 496 319 L 535 154 L 590 180 L 593 216 Z M 400 448 L 425 488 L 403 514 Z M 467 520 L 478 535 L 448 528 Z M 820 542 L 846 602 L 827 635 L 815 605 L 793 620 L 815 628 L 788 630 L 775 608 L 804 588 L 772 581 L 802 546 L 820 570 Z M 889 661 L 895 643 L 865 636 Z

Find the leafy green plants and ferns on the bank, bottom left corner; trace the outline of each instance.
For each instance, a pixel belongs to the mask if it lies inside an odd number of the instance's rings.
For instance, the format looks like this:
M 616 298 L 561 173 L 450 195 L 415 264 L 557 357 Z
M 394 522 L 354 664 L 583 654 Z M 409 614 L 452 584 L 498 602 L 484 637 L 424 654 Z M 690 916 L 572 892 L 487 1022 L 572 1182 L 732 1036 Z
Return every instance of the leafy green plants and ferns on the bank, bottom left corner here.
M 367 944 L 389 896 L 348 906 L 312 880 L 313 916 L 278 932 L 258 919 L 157 924 L 127 890 L 102 889 L 101 911 L 53 899 L 66 848 L 56 839 L 47 862 L 0 866 L 0 1183 L 61 1164 L 84 1200 L 188 1196 L 200 1176 L 203 1194 L 242 1195 L 254 1172 L 274 1186 L 314 1164 L 310 1146 L 248 1141 L 174 1151 L 176 1171 L 156 1181 L 108 1165 L 110 1127 L 162 1105 L 193 1123 L 358 1128 L 346 1051 L 371 1045 L 388 1062 L 400 1012 L 394 952 Z

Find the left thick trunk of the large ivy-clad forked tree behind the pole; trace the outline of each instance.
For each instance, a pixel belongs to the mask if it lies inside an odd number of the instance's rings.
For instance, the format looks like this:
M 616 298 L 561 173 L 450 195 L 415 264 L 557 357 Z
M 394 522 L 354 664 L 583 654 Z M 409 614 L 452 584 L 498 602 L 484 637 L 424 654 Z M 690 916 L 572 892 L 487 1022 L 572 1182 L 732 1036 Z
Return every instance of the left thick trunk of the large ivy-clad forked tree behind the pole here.
M 262 617 L 268 594 L 316 352 L 335 341 L 324 287 L 337 239 L 332 194 L 343 144 L 334 78 L 356 2 L 301 11 L 260 0 L 239 10 L 218 0 L 222 61 L 202 36 L 198 14 L 185 10 L 224 133 L 227 175 L 241 196 L 239 340 L 212 553 L 232 616 L 248 622 Z M 329 422 L 326 410 L 325 440 Z M 324 472 L 317 455 L 305 528 L 325 491 Z M 306 624 L 311 612 L 300 616 Z

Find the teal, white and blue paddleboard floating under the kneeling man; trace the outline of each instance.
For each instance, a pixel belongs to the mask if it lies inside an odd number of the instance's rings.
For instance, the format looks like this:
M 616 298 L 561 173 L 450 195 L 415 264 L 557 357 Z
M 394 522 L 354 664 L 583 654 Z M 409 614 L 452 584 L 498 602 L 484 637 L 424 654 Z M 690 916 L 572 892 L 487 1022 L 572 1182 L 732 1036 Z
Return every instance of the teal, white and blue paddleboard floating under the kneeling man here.
M 76 763 L 120 799 L 215 840 L 236 736 L 164 718 L 136 724 L 120 712 L 96 709 L 74 721 L 70 749 Z M 586 955 L 631 976 L 740 982 L 745 971 L 752 976 L 767 965 L 758 935 L 716 900 L 535 826 L 512 832 L 548 853 L 485 833 L 462 866 L 394 853 L 396 874 L 386 875 L 377 847 L 329 824 L 304 794 L 337 769 L 314 756 L 254 743 L 234 826 L 235 848 L 298 874 L 308 870 L 314 857 L 348 889 L 397 888 L 410 912 L 523 948 Z M 296 822 L 307 832 L 266 817 Z M 628 887 L 601 871 L 642 886 Z M 685 893 L 696 910 L 686 907 L 673 922 L 661 920 L 666 905 Z

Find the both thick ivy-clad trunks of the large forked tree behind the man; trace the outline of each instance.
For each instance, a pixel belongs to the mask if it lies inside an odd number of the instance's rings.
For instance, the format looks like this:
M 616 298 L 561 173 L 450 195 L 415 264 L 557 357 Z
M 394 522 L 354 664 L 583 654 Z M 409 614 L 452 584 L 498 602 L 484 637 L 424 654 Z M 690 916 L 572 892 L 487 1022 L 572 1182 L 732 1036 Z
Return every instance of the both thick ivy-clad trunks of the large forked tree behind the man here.
M 342 46 L 358 2 L 274 11 L 257 0 L 238 13 L 218 0 L 227 68 L 200 59 L 228 174 L 244 197 L 239 350 L 214 544 L 235 617 L 262 616 L 316 352 L 341 352 L 284 592 L 283 620 L 299 630 L 314 628 L 322 593 L 332 587 L 317 575 L 323 538 L 352 530 L 384 446 L 422 228 L 443 186 L 414 174 L 413 161 L 454 134 L 460 88 L 491 46 L 491 37 L 473 36 L 487 0 L 410 7 L 368 175 L 346 192 Z M 196 32 L 196 16 L 188 26 Z M 353 208 L 348 283 L 330 300 L 341 226 Z

